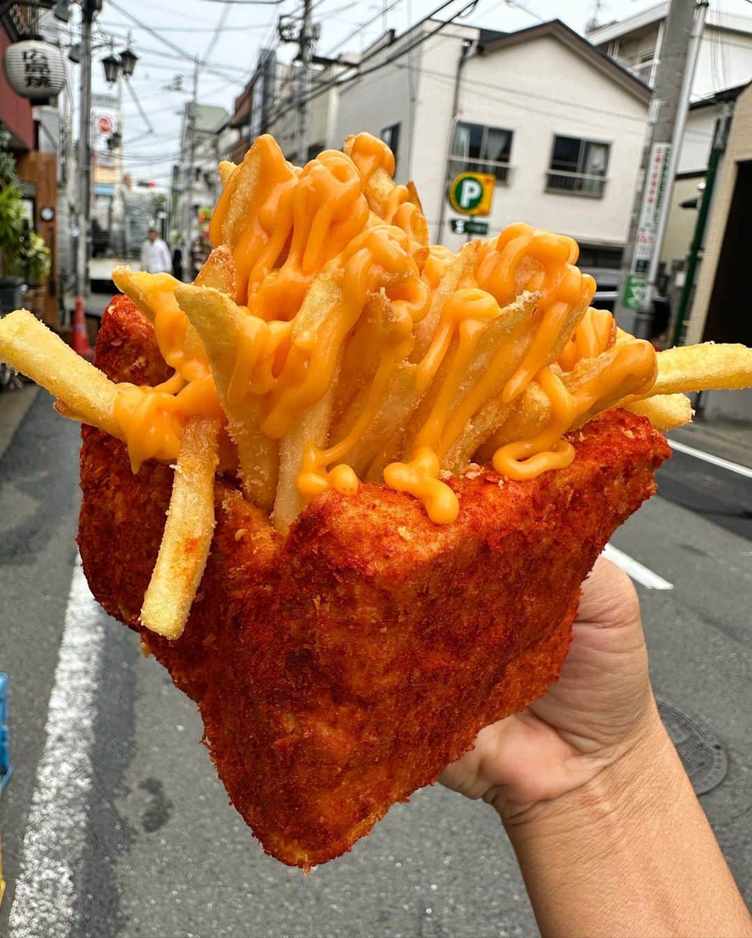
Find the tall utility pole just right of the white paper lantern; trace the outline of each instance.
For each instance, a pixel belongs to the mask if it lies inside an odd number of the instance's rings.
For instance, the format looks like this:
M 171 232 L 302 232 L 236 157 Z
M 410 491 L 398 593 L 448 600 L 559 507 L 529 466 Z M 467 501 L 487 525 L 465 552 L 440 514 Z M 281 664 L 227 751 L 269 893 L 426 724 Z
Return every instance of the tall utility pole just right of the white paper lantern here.
M 76 251 L 76 294 L 89 294 L 89 222 L 91 219 L 91 27 L 101 0 L 83 0 L 81 20 L 81 99 L 79 101 L 79 146 L 77 195 L 79 240 Z

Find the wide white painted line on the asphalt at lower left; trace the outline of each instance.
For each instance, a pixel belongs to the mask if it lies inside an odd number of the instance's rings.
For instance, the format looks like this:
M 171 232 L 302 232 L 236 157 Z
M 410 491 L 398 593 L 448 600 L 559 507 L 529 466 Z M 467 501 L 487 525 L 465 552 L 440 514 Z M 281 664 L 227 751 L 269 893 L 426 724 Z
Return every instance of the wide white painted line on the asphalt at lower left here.
M 74 924 L 74 877 L 80 871 L 92 785 L 103 620 L 77 560 L 10 910 L 11 938 L 68 938 Z

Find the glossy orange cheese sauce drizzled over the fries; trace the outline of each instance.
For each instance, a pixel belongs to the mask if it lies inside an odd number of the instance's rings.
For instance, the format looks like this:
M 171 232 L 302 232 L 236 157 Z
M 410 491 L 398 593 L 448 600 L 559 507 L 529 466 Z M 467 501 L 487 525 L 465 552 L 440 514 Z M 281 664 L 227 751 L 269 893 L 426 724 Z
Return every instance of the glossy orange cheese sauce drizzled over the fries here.
M 378 206 L 382 222 L 372 215 L 364 194 L 368 183 L 379 169 L 390 175 L 394 171 L 392 154 L 381 141 L 360 135 L 353 142 L 352 159 L 338 151 L 325 151 L 302 170 L 284 160 L 270 137 L 259 138 L 254 149 L 259 167 L 252 185 L 244 182 L 242 168 L 233 173 L 211 227 L 213 244 L 228 244 L 233 251 L 238 272 L 236 301 L 247 304 L 241 306 L 247 316 L 237 344 L 228 402 L 240 404 L 248 394 L 263 398 L 262 430 L 272 438 L 282 436 L 293 419 L 321 400 L 331 386 L 346 336 L 369 297 L 384 290 L 394 321 L 384 332 L 379 364 L 361 412 L 338 443 L 306 448 L 297 477 L 298 489 L 306 498 L 328 488 L 353 492 L 358 479 L 342 460 L 368 431 L 395 364 L 409 354 L 413 325 L 429 310 L 431 291 L 454 255 L 433 247 L 422 272 L 418 270 L 412 256 L 422 247 L 413 226 L 418 210 L 404 186 L 390 189 Z M 618 386 L 625 375 L 640 368 L 648 373 L 648 356 L 644 350 L 636 351 L 636 346 L 646 343 L 637 342 L 620 346 L 624 353 L 617 356 L 612 369 L 575 395 L 547 365 L 564 322 L 576 307 L 586 306 L 594 292 L 593 279 L 574 266 L 577 254 L 571 238 L 511 225 L 479 251 L 474 277 L 463 281 L 444 305 L 429 350 L 417 366 L 418 390 L 436 379 L 456 336 L 452 359 L 444 369 L 429 416 L 414 438 L 411 460 L 391 463 L 384 470 L 386 484 L 414 494 L 433 521 L 446 523 L 457 517 L 457 497 L 439 479 L 440 458 L 477 408 L 497 393 L 494 372 L 508 369 L 514 337 L 504 343 L 487 373 L 452 412 L 462 377 L 489 321 L 522 290 L 541 296 L 533 317 L 519 330 L 530 330 L 532 338 L 504 385 L 502 399 L 511 403 L 536 380 L 551 402 L 552 418 L 532 439 L 501 447 L 494 455 L 497 471 L 510 477 L 532 477 L 568 464 L 574 451 L 562 435 L 577 417 L 609 388 Z M 341 283 L 341 300 L 315 334 L 295 334 L 297 313 L 311 280 L 322 269 L 330 270 Z M 607 317 L 597 310 L 585 313 L 560 353 L 564 370 L 607 347 L 612 327 Z M 175 370 L 173 377 L 156 388 L 121 386 L 115 402 L 115 416 L 124 430 L 134 471 L 146 459 L 176 458 L 188 416 L 222 416 L 208 363 L 188 356 L 187 319 L 172 295 L 166 295 L 157 310 L 155 330 L 162 356 Z M 332 463 L 336 464 L 328 468 Z

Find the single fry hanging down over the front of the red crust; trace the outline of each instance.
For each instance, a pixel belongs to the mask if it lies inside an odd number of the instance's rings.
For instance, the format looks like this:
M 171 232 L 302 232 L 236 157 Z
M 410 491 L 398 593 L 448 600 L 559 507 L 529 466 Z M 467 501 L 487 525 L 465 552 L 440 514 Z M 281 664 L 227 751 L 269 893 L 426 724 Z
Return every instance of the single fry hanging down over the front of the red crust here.
M 218 420 L 192 417 L 183 432 L 157 564 L 141 622 L 168 639 L 183 633 L 214 534 Z

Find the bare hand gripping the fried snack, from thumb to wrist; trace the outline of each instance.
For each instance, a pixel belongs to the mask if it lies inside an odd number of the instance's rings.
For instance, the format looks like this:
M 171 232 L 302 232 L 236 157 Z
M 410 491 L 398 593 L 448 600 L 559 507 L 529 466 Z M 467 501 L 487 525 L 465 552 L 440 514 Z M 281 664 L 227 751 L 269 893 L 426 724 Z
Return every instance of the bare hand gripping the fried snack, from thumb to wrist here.
M 521 713 L 481 730 L 440 780 L 514 824 L 661 732 L 635 588 L 600 557 L 582 587 L 559 681 Z

